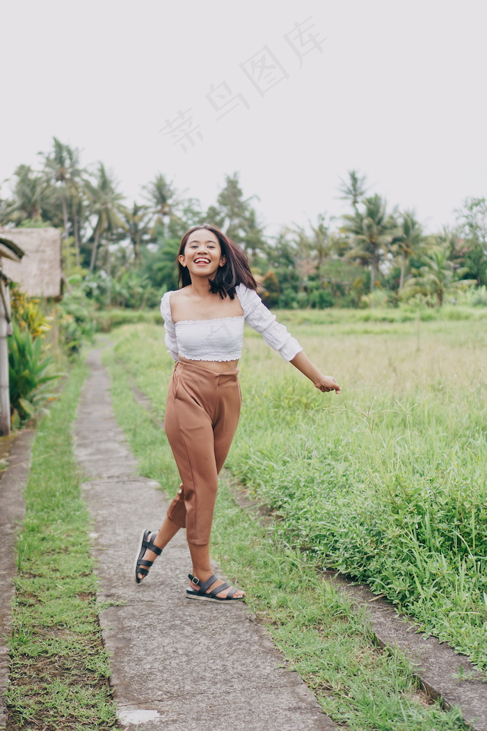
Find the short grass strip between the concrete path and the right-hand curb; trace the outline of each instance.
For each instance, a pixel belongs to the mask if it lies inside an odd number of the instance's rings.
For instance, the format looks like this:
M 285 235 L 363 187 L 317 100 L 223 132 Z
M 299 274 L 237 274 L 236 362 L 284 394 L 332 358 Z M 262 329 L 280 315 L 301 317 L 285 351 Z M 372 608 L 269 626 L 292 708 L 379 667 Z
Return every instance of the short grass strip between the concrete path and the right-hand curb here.
M 172 366 L 160 330 L 126 327 L 114 335 L 118 345 L 104 360 L 112 376 L 115 414 L 141 473 L 165 485 L 172 497 L 179 480 L 160 427 Z M 131 382 L 153 401 L 150 414 L 134 402 Z M 334 721 L 356 731 L 464 728 L 458 710 L 445 712 L 429 703 L 400 654 L 375 646 L 364 615 L 354 613 L 344 596 L 320 580 L 314 558 L 242 512 L 225 481 L 218 492 L 212 555 L 248 592 L 256 620 Z

